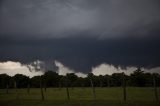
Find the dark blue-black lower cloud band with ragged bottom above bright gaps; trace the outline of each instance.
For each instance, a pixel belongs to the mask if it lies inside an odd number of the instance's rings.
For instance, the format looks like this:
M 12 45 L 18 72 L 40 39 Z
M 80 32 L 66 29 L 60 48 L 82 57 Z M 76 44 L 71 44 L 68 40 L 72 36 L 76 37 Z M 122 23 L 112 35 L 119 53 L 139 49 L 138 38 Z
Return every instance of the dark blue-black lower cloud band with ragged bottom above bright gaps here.
M 58 39 L 23 41 L 1 46 L 1 60 L 17 60 L 29 63 L 58 60 L 78 71 L 89 72 L 101 63 L 115 66 L 153 67 L 160 63 L 159 38 L 148 39 Z

